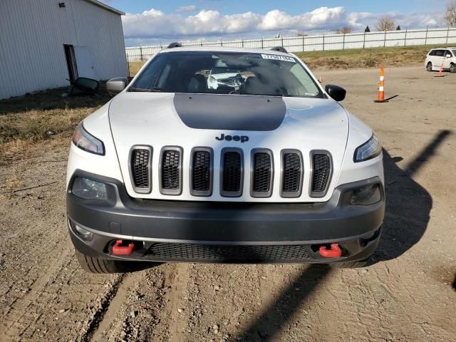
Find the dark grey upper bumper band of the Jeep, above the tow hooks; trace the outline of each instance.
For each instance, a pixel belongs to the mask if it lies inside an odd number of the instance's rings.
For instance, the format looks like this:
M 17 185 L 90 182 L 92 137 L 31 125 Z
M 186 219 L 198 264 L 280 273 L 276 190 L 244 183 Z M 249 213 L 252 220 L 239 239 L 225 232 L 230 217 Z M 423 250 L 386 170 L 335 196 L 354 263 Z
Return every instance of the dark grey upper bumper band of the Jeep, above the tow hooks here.
M 68 217 L 103 235 L 165 242 L 217 242 L 217 244 L 308 244 L 368 236 L 377 230 L 385 213 L 382 200 L 370 206 L 351 206 L 350 189 L 381 183 L 379 177 L 337 187 L 328 202 L 227 203 L 138 200 L 128 196 L 123 183 L 87 172 L 108 185 L 108 201 L 76 197 L 70 182 Z

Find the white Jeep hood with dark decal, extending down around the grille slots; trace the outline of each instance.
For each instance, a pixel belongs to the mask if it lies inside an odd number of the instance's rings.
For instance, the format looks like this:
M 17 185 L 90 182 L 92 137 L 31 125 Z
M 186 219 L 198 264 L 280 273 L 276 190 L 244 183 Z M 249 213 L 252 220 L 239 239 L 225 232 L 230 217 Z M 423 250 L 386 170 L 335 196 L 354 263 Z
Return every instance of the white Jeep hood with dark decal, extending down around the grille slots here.
M 304 157 L 304 185 L 309 184 L 310 170 L 306 161 L 311 150 L 326 150 L 333 160 L 333 177 L 338 175 L 348 137 L 348 116 L 341 105 L 323 98 L 278 98 L 250 95 L 120 93 L 109 108 L 110 126 L 120 167 L 128 192 L 133 197 L 164 198 L 153 187 L 157 178 L 158 157 L 164 146 L 178 146 L 183 150 L 183 184 L 188 178 L 190 151 L 193 147 L 212 147 L 214 167 L 219 151 L 224 147 L 239 147 L 244 158 L 252 149 L 269 149 L 274 155 L 274 166 L 279 167 L 281 150 L 296 149 Z M 242 138 L 241 138 L 242 137 Z M 245 138 L 247 137 L 247 138 Z M 127 183 L 128 157 L 133 145 L 152 147 L 152 193 L 138 195 Z M 246 167 L 247 162 L 246 162 Z M 246 172 L 246 176 L 247 176 Z M 276 172 L 279 173 L 279 172 Z M 244 176 L 245 177 L 245 176 Z M 274 176 L 275 177 L 275 176 Z M 158 182 L 158 178 L 157 178 Z M 334 182 L 331 182 L 331 185 Z M 214 188 L 215 188 L 214 183 Z M 247 186 L 247 185 L 246 185 Z M 246 189 L 248 190 L 248 188 Z M 323 201 L 331 197 L 328 189 Z M 277 197 L 276 197 L 277 196 Z M 316 202 L 309 197 L 306 187 L 298 202 Z M 165 196 L 170 199 L 170 196 Z M 182 192 L 172 199 L 207 200 Z M 252 202 L 297 202 L 283 199 L 278 191 L 267 199 L 252 199 L 249 192 L 242 197 L 227 199 L 214 191 L 212 200 Z

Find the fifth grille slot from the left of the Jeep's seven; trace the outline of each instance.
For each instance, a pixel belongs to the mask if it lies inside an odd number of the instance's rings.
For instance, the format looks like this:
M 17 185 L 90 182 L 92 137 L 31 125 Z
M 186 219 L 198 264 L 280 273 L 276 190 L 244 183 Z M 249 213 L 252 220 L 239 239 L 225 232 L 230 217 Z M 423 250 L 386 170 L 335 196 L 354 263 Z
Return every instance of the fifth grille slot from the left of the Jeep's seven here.
M 269 197 L 272 192 L 272 154 L 269 150 L 252 152 L 252 197 Z

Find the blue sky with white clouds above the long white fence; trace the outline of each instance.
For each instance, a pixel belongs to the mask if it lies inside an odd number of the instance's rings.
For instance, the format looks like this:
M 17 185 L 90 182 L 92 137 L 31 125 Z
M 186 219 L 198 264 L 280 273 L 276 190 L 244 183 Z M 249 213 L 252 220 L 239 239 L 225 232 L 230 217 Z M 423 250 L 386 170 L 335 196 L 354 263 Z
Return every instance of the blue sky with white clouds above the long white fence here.
M 333 33 L 348 26 L 375 30 L 388 14 L 401 28 L 445 27 L 442 0 L 249 1 L 249 0 L 102 0 L 125 11 L 127 46 L 170 41 L 257 38 L 281 33 Z

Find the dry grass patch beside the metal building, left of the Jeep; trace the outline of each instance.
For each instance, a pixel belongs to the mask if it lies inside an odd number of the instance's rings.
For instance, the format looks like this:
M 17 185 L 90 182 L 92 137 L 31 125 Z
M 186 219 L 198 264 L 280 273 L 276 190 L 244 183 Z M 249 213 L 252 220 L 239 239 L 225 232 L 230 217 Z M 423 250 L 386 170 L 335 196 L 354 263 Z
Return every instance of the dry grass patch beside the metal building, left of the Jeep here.
M 68 142 L 76 125 L 110 97 L 61 96 L 55 89 L 0 101 L 0 160 L 8 160 L 40 142 Z

